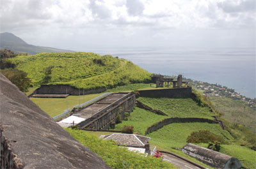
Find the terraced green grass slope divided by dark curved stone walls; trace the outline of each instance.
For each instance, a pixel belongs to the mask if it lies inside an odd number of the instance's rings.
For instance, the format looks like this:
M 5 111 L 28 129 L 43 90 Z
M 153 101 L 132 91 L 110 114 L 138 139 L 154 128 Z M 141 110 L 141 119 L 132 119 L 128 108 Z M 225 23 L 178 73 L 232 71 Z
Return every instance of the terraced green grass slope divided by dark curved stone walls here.
M 149 105 L 152 108 L 162 110 L 166 114 L 172 115 L 172 117 L 204 117 L 211 119 L 212 112 L 209 111 L 209 108 L 198 107 L 197 103 L 192 99 L 170 99 L 170 98 L 138 98 L 143 103 Z M 185 107 L 186 106 L 186 107 Z M 174 110 L 173 110 L 174 107 Z M 189 111 L 187 111 L 189 108 Z M 179 112 L 181 112 L 179 114 Z M 123 121 L 122 124 L 117 124 L 116 128 L 121 129 L 123 126 L 134 126 L 134 131 L 138 133 L 145 133 L 145 130 L 148 126 L 151 126 L 159 119 L 163 119 L 161 115 L 156 115 L 147 110 L 141 108 L 135 108 L 134 112 L 131 113 L 128 121 Z M 143 120 L 142 120 L 143 119 Z M 200 129 L 208 129 L 212 133 L 223 136 L 226 143 L 236 143 L 234 138 L 225 130 L 220 128 L 218 124 L 208 124 L 205 122 L 193 122 L 193 123 L 173 123 L 163 128 L 154 131 L 147 136 L 150 136 L 152 139 L 150 143 L 152 145 L 157 145 L 157 149 L 172 151 L 176 154 L 180 154 L 192 161 L 196 161 L 189 156 L 186 156 L 183 152 L 180 152 L 173 147 L 183 147 L 186 144 L 186 138 L 193 131 L 198 131 Z M 255 151 L 252 151 L 246 147 L 241 147 L 239 145 L 221 145 L 221 152 L 234 156 L 242 165 L 246 168 L 255 168 Z M 246 154 L 244 157 L 241 154 Z M 200 163 L 196 161 L 196 163 Z M 202 163 L 201 163 L 202 164 Z

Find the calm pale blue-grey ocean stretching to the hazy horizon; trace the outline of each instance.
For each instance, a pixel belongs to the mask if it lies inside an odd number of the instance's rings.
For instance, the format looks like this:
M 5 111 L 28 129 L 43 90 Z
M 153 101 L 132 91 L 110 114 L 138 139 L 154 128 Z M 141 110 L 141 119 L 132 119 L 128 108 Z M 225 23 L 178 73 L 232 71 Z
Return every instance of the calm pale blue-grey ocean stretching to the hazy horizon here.
M 86 48 L 134 62 L 150 73 L 179 75 L 221 84 L 249 98 L 255 91 L 255 48 L 124 47 Z

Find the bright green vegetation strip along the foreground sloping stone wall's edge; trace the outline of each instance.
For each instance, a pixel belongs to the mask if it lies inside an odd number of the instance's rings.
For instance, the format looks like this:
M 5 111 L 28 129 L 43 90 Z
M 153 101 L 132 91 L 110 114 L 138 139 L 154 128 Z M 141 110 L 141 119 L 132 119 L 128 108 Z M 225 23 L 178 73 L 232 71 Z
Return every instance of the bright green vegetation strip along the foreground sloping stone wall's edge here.
M 137 152 L 118 147 L 115 142 L 101 140 L 85 131 L 66 129 L 80 143 L 98 154 L 111 168 L 175 168 L 159 158 L 145 157 Z

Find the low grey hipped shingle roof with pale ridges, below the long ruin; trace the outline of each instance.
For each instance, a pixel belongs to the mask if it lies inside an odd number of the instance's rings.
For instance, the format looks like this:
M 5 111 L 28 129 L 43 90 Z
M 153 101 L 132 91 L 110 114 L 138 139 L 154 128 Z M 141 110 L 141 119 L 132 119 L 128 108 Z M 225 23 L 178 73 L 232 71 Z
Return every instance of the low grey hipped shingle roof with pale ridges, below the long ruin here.
M 100 136 L 100 138 L 104 138 L 103 140 L 113 140 L 118 145 L 127 145 L 127 147 L 132 147 L 132 146 L 143 147 L 150 139 L 150 137 L 147 137 L 147 136 L 124 134 L 124 133 L 113 133 L 112 135 L 102 135 Z

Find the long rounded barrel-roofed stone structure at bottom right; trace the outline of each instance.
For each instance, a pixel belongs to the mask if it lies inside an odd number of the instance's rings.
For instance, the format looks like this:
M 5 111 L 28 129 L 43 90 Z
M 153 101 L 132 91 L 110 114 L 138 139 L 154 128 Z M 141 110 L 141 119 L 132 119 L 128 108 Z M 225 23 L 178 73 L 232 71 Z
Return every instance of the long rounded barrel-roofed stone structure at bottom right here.
M 212 151 L 198 145 L 188 143 L 182 148 L 182 152 L 202 161 L 203 163 L 214 168 L 238 169 L 242 168 L 240 161 L 226 154 Z

